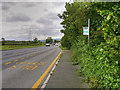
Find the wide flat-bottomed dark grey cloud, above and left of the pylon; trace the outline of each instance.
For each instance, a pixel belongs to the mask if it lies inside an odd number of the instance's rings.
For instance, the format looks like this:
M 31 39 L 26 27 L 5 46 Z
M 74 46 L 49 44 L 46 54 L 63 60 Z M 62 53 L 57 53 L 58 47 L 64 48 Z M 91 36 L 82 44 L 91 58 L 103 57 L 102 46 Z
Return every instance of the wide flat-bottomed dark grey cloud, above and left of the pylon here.
M 31 18 L 24 14 L 15 14 L 11 17 L 7 17 L 6 21 L 8 22 L 28 22 L 31 21 Z

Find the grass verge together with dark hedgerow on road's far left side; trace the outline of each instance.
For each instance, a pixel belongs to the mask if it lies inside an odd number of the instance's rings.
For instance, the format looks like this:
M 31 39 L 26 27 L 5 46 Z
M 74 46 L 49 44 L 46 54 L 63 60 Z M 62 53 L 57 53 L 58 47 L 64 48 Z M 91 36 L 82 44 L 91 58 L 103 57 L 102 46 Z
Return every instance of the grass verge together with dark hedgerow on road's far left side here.
M 45 43 L 41 42 L 37 38 L 33 41 L 6 41 L 2 38 L 2 42 L 0 45 L 0 50 L 14 50 L 14 49 L 23 49 L 23 48 L 33 48 L 33 47 L 40 47 L 44 46 Z

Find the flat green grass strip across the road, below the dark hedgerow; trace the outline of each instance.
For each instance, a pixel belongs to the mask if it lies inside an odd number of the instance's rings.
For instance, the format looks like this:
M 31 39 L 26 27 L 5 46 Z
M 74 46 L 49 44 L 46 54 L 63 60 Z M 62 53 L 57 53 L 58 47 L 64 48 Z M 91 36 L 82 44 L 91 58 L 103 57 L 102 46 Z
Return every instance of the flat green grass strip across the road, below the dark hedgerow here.
M 0 51 L 40 47 L 44 45 L 0 45 Z

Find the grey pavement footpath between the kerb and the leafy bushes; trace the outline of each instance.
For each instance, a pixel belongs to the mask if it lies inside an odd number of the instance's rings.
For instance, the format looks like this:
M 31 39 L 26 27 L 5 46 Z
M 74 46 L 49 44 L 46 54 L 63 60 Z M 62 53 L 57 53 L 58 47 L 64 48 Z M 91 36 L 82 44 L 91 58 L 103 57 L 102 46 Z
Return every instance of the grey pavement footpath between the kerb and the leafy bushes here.
M 51 75 L 46 87 L 49 88 L 89 88 L 84 78 L 78 75 L 78 67 L 70 61 L 70 51 L 64 50 L 62 57 Z M 53 89 L 53 90 L 54 90 Z M 52 90 L 52 89 L 51 89 Z

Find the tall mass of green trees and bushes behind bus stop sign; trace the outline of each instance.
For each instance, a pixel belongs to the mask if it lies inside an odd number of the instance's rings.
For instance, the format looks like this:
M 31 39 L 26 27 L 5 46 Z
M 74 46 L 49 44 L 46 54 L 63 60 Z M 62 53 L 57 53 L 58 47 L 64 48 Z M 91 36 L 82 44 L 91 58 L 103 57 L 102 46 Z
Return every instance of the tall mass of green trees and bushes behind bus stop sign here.
M 61 47 L 72 52 L 91 88 L 120 88 L 120 2 L 66 3 Z M 90 43 L 83 27 L 90 18 Z

